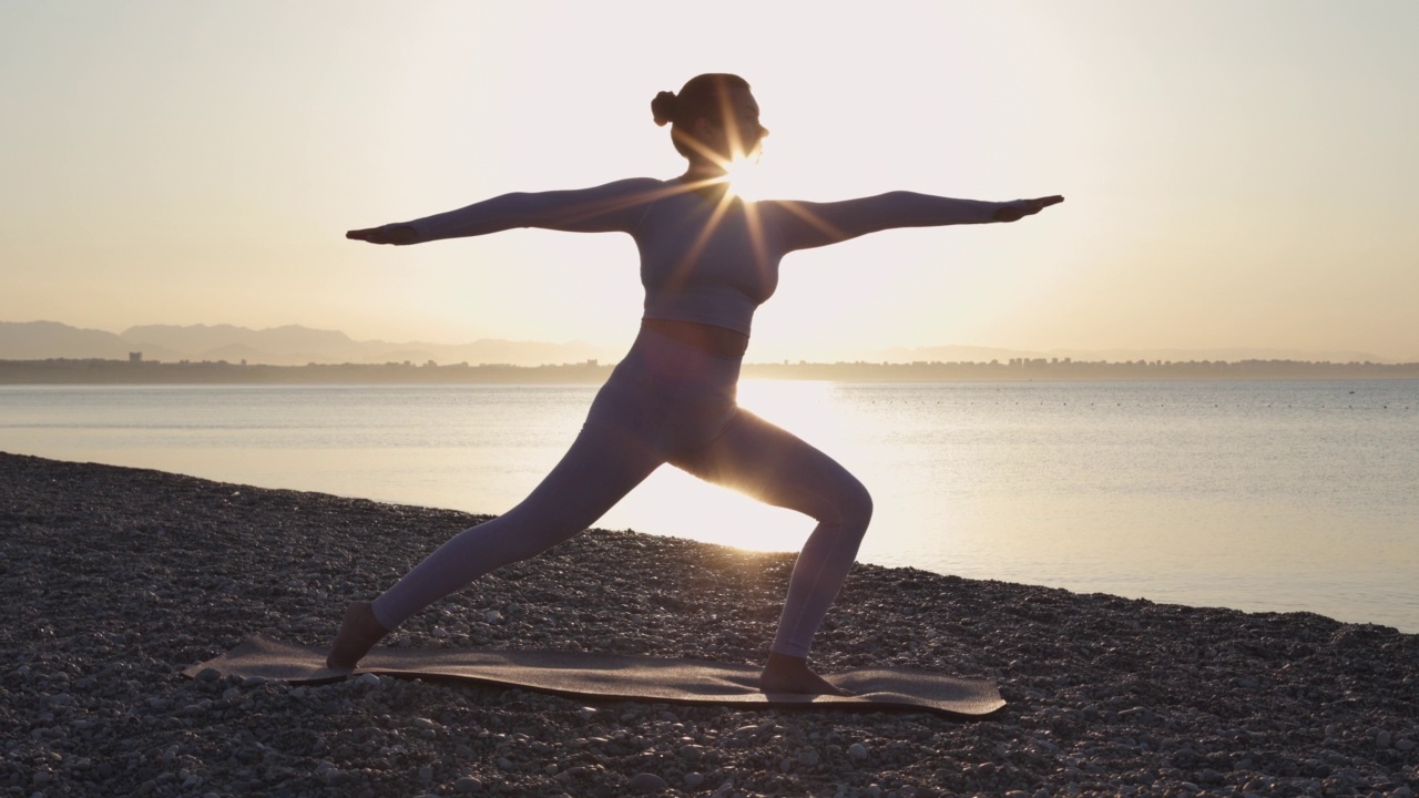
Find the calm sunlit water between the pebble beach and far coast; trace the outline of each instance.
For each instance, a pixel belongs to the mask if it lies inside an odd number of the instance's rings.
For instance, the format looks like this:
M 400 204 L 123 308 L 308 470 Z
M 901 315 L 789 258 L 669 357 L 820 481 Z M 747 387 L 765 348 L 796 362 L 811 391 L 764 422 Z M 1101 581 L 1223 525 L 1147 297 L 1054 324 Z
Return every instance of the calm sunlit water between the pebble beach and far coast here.
M 501 513 L 593 393 L 0 386 L 0 450 Z M 1419 632 L 1419 382 L 746 382 L 741 403 L 867 483 L 863 561 Z M 810 528 L 668 467 L 597 525 L 772 550 Z

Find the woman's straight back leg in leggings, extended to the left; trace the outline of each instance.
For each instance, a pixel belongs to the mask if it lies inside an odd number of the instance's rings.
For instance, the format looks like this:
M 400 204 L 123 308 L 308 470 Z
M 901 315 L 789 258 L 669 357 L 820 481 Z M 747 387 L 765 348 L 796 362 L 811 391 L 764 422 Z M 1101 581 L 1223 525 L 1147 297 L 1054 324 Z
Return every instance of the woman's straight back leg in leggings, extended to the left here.
M 375 599 L 393 629 L 478 576 L 576 535 L 640 484 L 663 460 L 610 425 L 587 423 L 552 473 L 508 513 L 464 530 Z

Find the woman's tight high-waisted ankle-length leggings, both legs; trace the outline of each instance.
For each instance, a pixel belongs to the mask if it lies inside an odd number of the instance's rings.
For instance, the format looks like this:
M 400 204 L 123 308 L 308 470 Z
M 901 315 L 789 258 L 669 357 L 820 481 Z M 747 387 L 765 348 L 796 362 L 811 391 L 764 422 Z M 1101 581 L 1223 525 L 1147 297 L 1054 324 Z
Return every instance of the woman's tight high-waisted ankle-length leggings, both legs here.
M 393 629 L 478 576 L 552 548 L 671 463 L 817 521 L 793 567 L 771 649 L 806 657 L 857 558 L 873 501 L 832 457 L 738 409 L 738 358 L 641 329 L 542 484 L 508 513 L 438 547 L 375 599 L 375 618 Z

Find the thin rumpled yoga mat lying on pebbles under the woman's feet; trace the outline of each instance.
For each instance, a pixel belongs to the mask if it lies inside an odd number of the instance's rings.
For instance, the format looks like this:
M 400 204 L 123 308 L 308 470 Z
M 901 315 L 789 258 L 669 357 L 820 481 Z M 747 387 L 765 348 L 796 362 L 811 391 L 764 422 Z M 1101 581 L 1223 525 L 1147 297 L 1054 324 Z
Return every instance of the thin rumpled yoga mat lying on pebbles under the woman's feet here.
M 955 717 L 981 717 L 1005 706 L 995 682 L 959 679 L 905 667 L 858 667 L 827 674 L 854 696 L 762 693 L 759 669 L 691 659 L 658 659 L 592 652 L 385 649 L 376 647 L 355 670 L 325 667 L 324 646 L 301 646 L 251 636 L 230 652 L 183 670 L 221 676 L 261 676 L 277 682 L 335 682 L 360 673 L 412 679 L 453 679 L 522 687 L 582 699 L 674 701 L 683 704 L 830 706 L 841 709 L 920 709 Z

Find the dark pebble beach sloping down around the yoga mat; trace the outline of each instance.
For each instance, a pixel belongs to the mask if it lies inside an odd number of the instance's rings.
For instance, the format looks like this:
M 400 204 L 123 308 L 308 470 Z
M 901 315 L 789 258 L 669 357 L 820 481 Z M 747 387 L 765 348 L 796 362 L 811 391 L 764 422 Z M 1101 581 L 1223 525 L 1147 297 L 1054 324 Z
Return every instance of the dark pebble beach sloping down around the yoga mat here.
M 177 676 L 254 632 L 329 640 L 346 601 L 478 520 L 0 454 L 0 794 L 1419 791 L 1419 635 L 901 568 L 853 571 L 817 667 L 995 676 L 1005 710 L 958 723 Z M 790 568 L 792 555 L 593 530 L 430 608 L 390 645 L 761 663 Z

